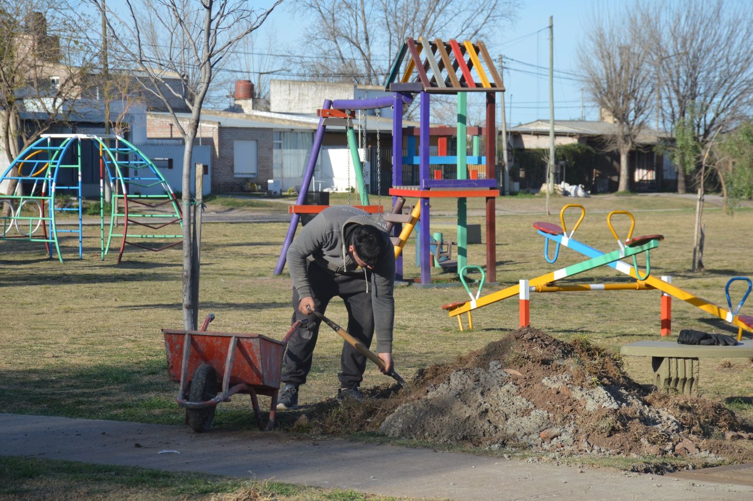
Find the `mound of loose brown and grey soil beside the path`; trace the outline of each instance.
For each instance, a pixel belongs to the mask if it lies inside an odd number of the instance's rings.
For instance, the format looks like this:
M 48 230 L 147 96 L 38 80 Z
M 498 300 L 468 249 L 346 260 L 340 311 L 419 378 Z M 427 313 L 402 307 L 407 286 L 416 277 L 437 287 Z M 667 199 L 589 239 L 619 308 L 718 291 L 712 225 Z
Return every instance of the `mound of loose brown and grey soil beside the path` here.
M 328 400 L 294 429 L 380 432 L 397 438 L 567 455 L 650 455 L 751 460 L 735 414 L 706 399 L 645 392 L 618 356 L 584 338 L 565 343 L 520 328 L 453 363 L 431 365 L 411 392 L 364 390 Z

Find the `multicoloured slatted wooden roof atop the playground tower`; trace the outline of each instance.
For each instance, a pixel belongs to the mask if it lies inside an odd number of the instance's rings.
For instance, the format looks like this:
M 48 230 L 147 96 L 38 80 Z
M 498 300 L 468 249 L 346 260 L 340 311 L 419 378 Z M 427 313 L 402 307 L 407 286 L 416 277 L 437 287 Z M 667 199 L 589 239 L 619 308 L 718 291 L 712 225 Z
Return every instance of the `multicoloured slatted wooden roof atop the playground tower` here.
M 401 74 L 402 66 L 405 68 Z M 468 40 L 459 43 L 440 38 L 433 41 L 407 38 L 392 63 L 385 89 L 428 93 L 505 92 L 483 41 L 473 44 Z

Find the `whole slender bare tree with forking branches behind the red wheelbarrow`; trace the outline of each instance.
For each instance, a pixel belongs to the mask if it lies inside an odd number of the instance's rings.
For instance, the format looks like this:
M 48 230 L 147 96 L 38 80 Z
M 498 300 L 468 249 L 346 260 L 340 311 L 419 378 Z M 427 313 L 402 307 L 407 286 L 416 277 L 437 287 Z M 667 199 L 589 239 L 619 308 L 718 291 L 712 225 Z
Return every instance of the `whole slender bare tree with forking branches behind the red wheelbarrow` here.
M 126 0 L 122 17 L 104 11 L 112 55 L 132 69 L 146 93 L 160 99 L 172 115 L 184 142 L 181 183 L 183 212 L 183 323 L 197 328 L 197 243 L 191 234 L 191 154 L 204 99 L 215 72 L 245 36 L 258 29 L 282 0 L 270 8 L 251 8 L 242 0 Z M 181 120 L 176 105 L 185 105 L 191 118 Z

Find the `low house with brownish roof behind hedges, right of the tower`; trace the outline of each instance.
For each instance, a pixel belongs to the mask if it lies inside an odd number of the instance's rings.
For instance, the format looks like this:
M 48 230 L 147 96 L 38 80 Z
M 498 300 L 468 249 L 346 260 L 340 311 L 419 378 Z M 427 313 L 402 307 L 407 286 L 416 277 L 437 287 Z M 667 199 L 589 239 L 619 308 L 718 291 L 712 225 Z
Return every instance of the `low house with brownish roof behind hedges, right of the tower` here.
M 620 176 L 620 155 L 605 151 L 605 139 L 614 135 L 617 126 L 605 117 L 601 121 L 555 120 L 555 147 L 584 145 L 581 148 L 593 154 L 579 165 L 555 164 L 556 182 L 584 185 L 592 193 L 609 193 L 617 190 Z M 512 176 L 520 182 L 520 189 L 538 189 L 546 176 L 541 151 L 549 149 L 549 121 L 537 120 L 510 129 L 509 147 L 512 149 Z M 669 140 L 666 133 L 646 128 L 639 133 L 638 147 L 630 151 L 630 190 L 674 191 L 677 173 L 669 156 L 660 153 L 658 145 Z M 574 148 L 571 148 L 574 149 Z M 537 152 L 538 155 L 532 154 Z M 559 157 L 558 157 L 559 159 Z

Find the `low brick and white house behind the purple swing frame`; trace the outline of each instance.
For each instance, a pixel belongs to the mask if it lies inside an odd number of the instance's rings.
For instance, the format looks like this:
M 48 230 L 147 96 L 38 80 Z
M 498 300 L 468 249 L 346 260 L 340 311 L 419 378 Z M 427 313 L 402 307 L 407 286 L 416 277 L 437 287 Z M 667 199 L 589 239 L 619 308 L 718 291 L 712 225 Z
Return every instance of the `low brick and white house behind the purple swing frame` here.
M 272 80 L 268 99 L 255 99 L 253 95 L 251 82 L 238 81 L 230 108 L 202 110 L 195 144 L 211 150 L 212 193 L 267 191 L 270 181 L 282 191 L 297 190 L 319 124 L 316 112 L 322 108 L 325 97 L 365 99 L 391 94 L 373 86 Z M 177 116 L 187 124 L 191 115 L 178 113 Z M 383 108 L 378 115 L 373 110 L 365 116 L 357 115 L 350 125 L 355 128 L 361 145 L 359 151 L 370 192 L 376 193 L 381 185 L 382 194 L 387 194 L 391 180 L 392 110 Z M 147 113 L 149 142 L 180 144 L 180 135 L 174 128 L 169 113 Z M 361 130 L 364 133 L 361 134 Z M 343 121 L 328 125 L 312 179 L 315 191 L 346 191 L 355 186 L 355 171 L 345 133 Z M 382 183 L 377 163 L 382 166 L 385 180 Z

